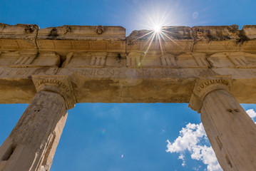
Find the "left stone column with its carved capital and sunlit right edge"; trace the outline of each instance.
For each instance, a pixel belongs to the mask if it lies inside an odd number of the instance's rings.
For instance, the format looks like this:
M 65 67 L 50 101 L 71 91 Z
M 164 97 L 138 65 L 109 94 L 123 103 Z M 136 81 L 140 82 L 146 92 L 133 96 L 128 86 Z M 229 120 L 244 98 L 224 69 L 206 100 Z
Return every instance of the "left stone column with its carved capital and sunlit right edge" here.
M 76 102 L 68 76 L 33 76 L 38 90 L 0 147 L 0 171 L 50 170 L 68 114 Z

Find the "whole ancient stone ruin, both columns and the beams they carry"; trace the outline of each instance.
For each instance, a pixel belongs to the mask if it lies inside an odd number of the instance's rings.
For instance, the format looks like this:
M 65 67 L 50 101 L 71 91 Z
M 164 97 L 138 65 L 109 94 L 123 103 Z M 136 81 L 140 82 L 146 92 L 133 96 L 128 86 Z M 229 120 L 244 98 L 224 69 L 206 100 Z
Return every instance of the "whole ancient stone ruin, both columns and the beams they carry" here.
M 223 170 L 255 170 L 256 26 L 0 24 L 0 103 L 30 103 L 0 147 L 1 171 L 50 170 L 76 103 L 189 103 Z

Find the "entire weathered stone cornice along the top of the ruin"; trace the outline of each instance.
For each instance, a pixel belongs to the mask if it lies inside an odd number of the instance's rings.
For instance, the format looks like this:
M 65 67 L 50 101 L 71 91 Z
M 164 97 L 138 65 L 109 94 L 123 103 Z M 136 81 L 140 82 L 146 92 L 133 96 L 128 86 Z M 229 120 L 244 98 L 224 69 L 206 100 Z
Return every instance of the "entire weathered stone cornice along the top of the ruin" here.
M 153 39 L 150 51 L 164 53 L 220 51 L 255 51 L 256 26 L 165 26 L 168 41 Z M 152 32 L 152 31 L 151 31 Z M 0 50 L 144 52 L 152 37 L 150 30 L 133 31 L 126 37 L 121 26 L 58 26 L 39 28 L 36 25 L 0 24 Z M 168 39 L 168 38 L 166 38 Z

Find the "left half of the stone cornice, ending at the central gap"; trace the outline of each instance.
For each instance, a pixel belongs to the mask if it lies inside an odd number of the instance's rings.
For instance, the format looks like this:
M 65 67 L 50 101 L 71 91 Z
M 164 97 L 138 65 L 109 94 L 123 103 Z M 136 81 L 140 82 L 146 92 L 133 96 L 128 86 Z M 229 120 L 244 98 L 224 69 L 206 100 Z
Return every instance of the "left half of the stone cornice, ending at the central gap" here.
M 29 31 L 28 29 L 31 28 Z M 121 26 L 60 26 L 41 28 L 36 25 L 0 24 L 0 48 L 6 51 L 114 51 L 126 52 L 126 30 Z

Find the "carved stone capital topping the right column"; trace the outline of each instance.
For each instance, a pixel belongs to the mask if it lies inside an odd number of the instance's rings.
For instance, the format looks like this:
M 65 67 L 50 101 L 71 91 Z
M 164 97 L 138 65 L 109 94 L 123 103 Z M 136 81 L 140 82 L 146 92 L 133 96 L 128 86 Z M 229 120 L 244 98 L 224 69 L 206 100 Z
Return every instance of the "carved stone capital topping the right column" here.
M 200 113 L 203 100 L 208 93 L 213 90 L 229 90 L 231 83 L 231 78 L 229 76 L 221 78 L 198 78 L 195 81 L 195 86 L 188 106 Z

